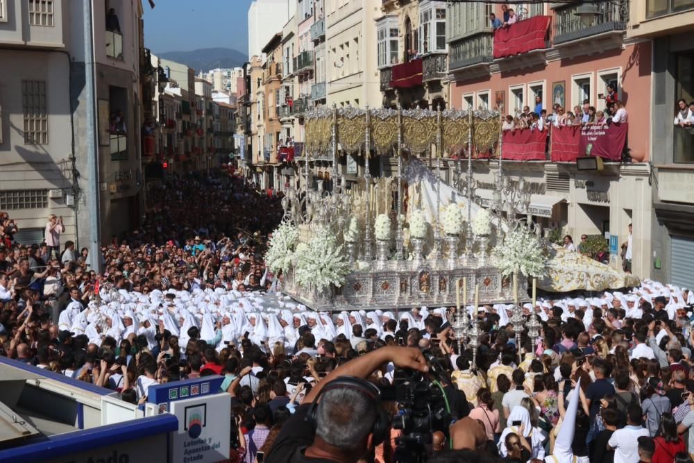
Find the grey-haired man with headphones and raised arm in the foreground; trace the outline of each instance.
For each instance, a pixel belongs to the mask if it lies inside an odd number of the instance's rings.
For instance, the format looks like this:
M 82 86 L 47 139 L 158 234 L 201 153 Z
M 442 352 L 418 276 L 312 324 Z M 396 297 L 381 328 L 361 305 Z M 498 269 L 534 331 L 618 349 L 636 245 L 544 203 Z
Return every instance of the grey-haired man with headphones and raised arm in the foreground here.
M 266 463 L 357 462 L 373 451 L 373 424 L 377 403 L 357 388 L 337 387 L 321 395 L 316 423 L 307 417 L 310 404 L 328 382 L 340 376 L 368 378 L 382 364 L 426 372 L 426 360 L 417 348 L 388 346 L 350 360 L 332 371 L 306 396 L 302 405 L 282 426 Z

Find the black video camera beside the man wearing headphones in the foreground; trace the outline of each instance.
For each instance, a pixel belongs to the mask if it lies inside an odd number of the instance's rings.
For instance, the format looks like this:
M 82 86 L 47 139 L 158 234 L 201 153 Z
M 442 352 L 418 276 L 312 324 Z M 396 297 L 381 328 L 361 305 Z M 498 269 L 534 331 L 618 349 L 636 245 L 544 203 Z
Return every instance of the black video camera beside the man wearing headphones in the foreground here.
M 382 400 L 398 403 L 398 414 L 392 426 L 402 430 L 393 454 L 396 463 L 418 463 L 431 454 L 433 433 L 448 428 L 450 410 L 446 405 L 443 386 L 448 380 L 443 367 L 430 351 L 423 351 L 429 365 L 428 373 L 398 369 L 393 376 L 393 387 L 381 390 Z

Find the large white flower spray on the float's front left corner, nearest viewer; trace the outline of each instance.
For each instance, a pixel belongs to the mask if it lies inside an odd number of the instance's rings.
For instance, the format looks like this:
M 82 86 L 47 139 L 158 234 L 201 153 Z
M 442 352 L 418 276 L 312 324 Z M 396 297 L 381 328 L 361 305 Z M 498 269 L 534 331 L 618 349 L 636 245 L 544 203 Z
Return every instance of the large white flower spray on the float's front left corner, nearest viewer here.
M 303 244 L 303 243 L 302 243 Z M 294 276 L 304 287 L 319 291 L 330 285 L 340 287 L 351 270 L 342 246 L 328 230 L 317 230 L 311 241 L 296 247 Z

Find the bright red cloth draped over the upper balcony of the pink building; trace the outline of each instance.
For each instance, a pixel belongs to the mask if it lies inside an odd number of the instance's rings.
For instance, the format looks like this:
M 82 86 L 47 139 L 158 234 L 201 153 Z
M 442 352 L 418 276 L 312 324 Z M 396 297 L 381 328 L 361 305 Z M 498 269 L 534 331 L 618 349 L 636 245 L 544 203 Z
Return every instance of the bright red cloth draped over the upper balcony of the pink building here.
M 508 27 L 498 28 L 494 32 L 494 58 L 545 48 L 550 19 L 549 16 L 533 16 Z

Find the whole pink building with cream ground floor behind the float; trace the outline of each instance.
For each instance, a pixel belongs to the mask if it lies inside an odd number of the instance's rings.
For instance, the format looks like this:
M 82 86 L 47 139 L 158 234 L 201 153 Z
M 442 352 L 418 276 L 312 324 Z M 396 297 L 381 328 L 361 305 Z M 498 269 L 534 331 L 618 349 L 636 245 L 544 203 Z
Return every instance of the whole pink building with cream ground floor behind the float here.
M 532 187 L 529 212 L 545 230 L 571 235 L 575 243 L 582 235 L 605 237 L 613 267 L 621 267 L 619 244 L 627 240 L 633 224 L 632 269 L 648 278 L 653 271 L 655 217 L 648 181 L 652 42 L 627 39 L 626 0 L 600 2 L 594 17 L 576 15 L 579 2 L 508 4 L 518 9 L 518 22 L 502 31 L 506 42 L 498 36 L 496 43 L 490 13 L 504 22 L 500 6 L 481 1 L 448 6 L 450 106 L 500 108 L 513 116 L 524 106 L 534 111 L 539 96 L 550 114 L 555 103 L 573 111 L 585 100 L 604 110 L 607 85 L 616 87 L 628 113 L 631 160 L 607 162 L 602 171 L 584 171 L 575 162 L 551 162 L 548 155 L 539 161 L 505 161 L 503 170 Z M 491 204 L 497 169 L 496 159 L 473 161 L 479 185 L 475 195 L 485 207 Z

